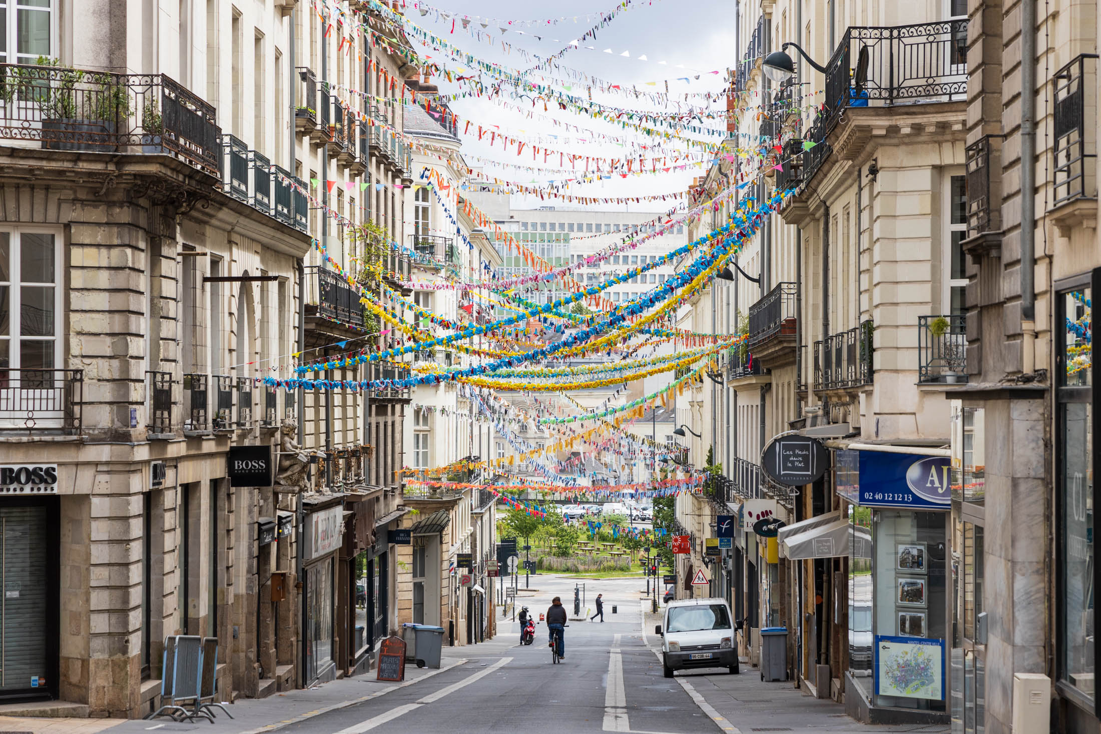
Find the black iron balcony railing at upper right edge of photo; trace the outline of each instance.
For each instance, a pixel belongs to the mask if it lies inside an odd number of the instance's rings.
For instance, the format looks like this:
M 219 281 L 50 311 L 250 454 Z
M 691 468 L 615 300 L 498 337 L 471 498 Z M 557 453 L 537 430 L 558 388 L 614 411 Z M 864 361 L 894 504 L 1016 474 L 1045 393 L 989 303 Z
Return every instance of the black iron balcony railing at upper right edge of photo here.
M 1097 54 L 1081 54 L 1055 73 L 1053 186 L 1055 204 L 1097 196 Z

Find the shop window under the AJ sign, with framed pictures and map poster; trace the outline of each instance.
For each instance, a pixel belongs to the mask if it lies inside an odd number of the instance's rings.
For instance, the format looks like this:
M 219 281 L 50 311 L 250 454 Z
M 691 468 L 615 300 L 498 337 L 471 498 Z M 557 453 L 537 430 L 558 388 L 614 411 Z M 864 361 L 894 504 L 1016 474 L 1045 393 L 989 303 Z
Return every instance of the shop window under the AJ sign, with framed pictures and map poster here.
M 875 511 L 876 705 L 945 709 L 946 519 L 939 512 Z

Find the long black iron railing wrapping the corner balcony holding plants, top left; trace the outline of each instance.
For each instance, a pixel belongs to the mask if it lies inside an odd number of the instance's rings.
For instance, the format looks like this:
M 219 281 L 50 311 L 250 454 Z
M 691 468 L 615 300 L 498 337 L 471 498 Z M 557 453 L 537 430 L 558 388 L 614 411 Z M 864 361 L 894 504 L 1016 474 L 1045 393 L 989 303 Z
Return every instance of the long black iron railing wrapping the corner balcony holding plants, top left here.
M 0 64 L 0 138 L 52 151 L 166 153 L 218 175 L 212 106 L 163 74 Z

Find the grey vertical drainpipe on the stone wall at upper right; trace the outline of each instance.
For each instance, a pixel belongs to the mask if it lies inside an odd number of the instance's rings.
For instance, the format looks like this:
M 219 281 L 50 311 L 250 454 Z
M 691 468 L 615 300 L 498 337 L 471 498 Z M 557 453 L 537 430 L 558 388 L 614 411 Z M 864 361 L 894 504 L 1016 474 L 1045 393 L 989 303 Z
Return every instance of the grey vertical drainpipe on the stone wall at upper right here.
M 1021 371 L 1036 371 L 1036 0 L 1021 2 Z

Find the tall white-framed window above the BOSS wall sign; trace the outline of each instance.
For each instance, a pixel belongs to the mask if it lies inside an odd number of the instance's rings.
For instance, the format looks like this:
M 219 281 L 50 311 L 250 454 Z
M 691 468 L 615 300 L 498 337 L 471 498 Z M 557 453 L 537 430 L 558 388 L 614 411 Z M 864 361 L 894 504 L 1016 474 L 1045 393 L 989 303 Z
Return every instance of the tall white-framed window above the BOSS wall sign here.
M 57 366 L 61 292 L 56 282 L 57 238 L 53 233 L 0 230 L 0 369 Z M 12 314 L 18 318 L 11 318 Z

